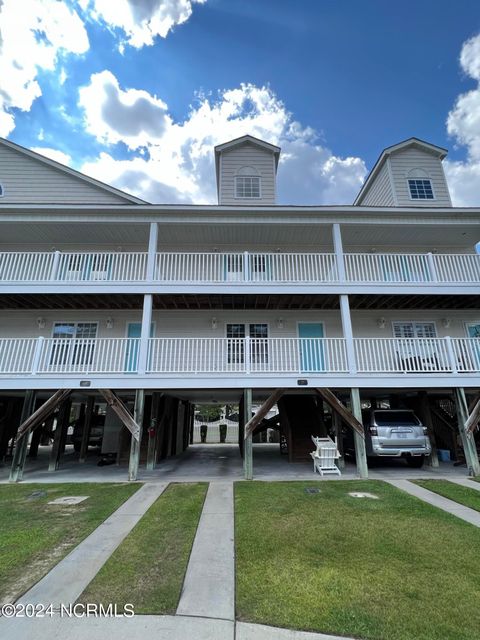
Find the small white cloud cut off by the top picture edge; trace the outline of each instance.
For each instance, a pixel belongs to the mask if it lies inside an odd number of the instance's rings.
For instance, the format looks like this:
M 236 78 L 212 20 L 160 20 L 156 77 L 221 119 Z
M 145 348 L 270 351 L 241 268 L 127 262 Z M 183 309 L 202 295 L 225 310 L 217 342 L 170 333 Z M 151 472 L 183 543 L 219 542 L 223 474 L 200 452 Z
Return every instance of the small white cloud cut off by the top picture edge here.
M 79 0 L 92 16 L 110 27 L 122 29 L 126 43 L 140 48 L 152 45 L 155 38 L 166 38 L 192 15 L 194 4 L 206 0 Z

